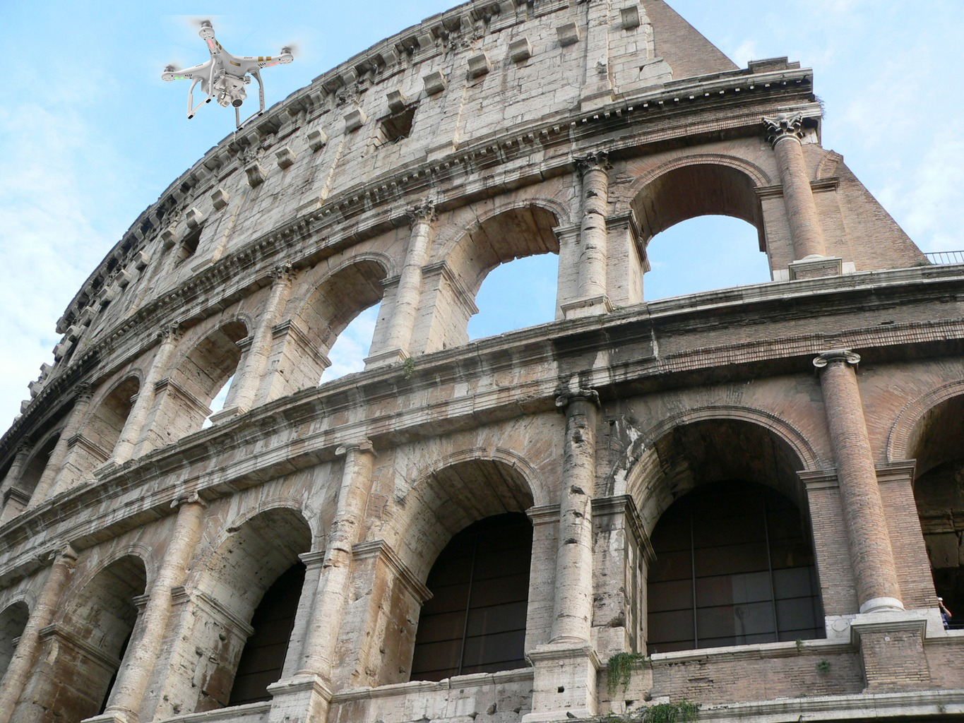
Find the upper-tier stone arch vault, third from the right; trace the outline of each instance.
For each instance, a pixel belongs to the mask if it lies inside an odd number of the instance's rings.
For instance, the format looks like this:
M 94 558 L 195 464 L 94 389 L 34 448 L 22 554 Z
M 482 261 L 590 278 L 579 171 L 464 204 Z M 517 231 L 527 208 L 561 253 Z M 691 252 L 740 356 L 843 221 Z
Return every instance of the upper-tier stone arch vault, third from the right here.
M 382 301 L 384 281 L 393 273 L 387 254 L 354 254 L 330 267 L 288 313 L 290 327 L 285 357 L 292 388 L 316 386 L 322 372 L 331 365 L 328 353 L 335 340 L 356 316 Z

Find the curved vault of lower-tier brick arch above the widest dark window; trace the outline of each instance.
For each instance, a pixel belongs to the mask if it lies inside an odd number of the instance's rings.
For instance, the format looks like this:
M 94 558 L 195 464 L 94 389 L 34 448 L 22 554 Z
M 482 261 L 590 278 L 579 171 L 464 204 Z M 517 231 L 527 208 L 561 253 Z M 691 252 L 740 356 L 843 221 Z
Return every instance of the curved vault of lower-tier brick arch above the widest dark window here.
M 806 515 L 806 495 L 796 472 L 825 467 L 813 445 L 788 422 L 762 410 L 729 405 L 707 406 L 661 419 L 639 434 L 614 466 L 614 470 L 625 470 L 624 486 L 615 489 L 614 494 L 625 493 L 635 498 L 648 530 L 652 529 L 675 498 L 703 481 L 697 479 L 703 473 L 701 469 L 692 469 L 693 465 L 686 459 L 683 449 L 679 444 L 674 444 L 673 439 L 675 434 L 681 432 L 683 435 L 694 435 L 703 430 L 718 430 L 723 438 L 746 437 L 762 445 L 763 451 L 772 457 L 776 479 L 769 479 L 765 474 L 767 470 L 762 472 L 753 469 L 753 465 L 739 464 L 736 457 L 722 462 L 720 469 L 729 467 L 733 469 L 733 478 L 745 476 L 750 481 L 774 487 L 794 500 L 801 513 Z M 770 442 L 769 448 L 766 447 L 767 440 Z M 698 446 L 691 445 L 693 449 Z M 701 465 L 706 466 L 698 463 L 696 467 Z M 715 474 L 720 471 L 712 466 L 707 469 Z M 755 479 L 755 475 L 760 478 Z M 610 476 L 614 478 L 614 475 Z M 719 478 L 725 479 L 726 475 Z

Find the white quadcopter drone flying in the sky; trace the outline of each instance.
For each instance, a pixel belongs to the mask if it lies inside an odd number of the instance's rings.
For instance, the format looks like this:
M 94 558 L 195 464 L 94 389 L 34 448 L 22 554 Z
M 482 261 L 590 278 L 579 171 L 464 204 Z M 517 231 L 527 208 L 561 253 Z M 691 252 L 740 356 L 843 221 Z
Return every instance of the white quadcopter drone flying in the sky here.
M 190 80 L 191 88 L 187 92 L 187 117 L 194 118 L 198 109 L 204 103 L 210 103 L 211 99 L 216 99 L 222 108 L 228 105 L 234 107 L 234 122 L 238 128 L 249 120 L 264 113 L 264 84 L 261 82 L 261 68 L 278 65 L 287 65 L 294 60 L 290 47 L 282 47 L 281 55 L 274 58 L 268 56 L 238 57 L 231 55 L 221 47 L 221 43 L 214 40 L 214 28 L 211 27 L 210 20 L 201 20 L 201 32 L 198 33 L 201 40 L 207 43 L 207 49 L 211 53 L 211 59 L 200 66 L 188 67 L 178 70 L 174 66 L 164 68 L 161 73 L 163 80 Z M 250 118 L 241 122 L 241 104 L 244 103 L 248 94 L 244 87 L 251 83 L 254 75 L 257 80 L 257 98 L 260 108 Z M 201 100 L 198 105 L 194 104 L 194 87 L 201 83 L 201 93 L 207 97 Z

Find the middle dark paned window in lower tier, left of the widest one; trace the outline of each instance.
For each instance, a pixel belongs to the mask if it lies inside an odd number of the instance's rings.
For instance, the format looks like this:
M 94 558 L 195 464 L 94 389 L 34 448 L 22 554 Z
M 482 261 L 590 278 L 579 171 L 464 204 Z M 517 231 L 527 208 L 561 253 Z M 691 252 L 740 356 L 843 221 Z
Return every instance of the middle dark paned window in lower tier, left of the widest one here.
M 412 680 L 527 667 L 532 525 L 522 514 L 475 522 L 451 539 L 429 573 Z

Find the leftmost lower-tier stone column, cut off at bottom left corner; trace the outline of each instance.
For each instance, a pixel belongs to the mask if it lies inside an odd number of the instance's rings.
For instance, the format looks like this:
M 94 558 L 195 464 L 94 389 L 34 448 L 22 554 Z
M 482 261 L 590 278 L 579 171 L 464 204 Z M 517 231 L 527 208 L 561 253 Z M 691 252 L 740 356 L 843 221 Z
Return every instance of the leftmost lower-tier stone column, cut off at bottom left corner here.
M 61 601 L 64 588 L 70 579 L 70 572 L 77 562 L 77 553 L 69 545 L 65 545 L 53 553 L 53 565 L 50 576 L 47 577 L 40 598 L 30 613 L 27 625 L 20 634 L 16 644 L 16 651 L 7 673 L 0 683 L 0 723 L 10 723 L 13 708 L 23 691 L 24 685 L 34 669 L 37 653 L 40 649 L 40 630 L 53 622 L 54 613 Z

